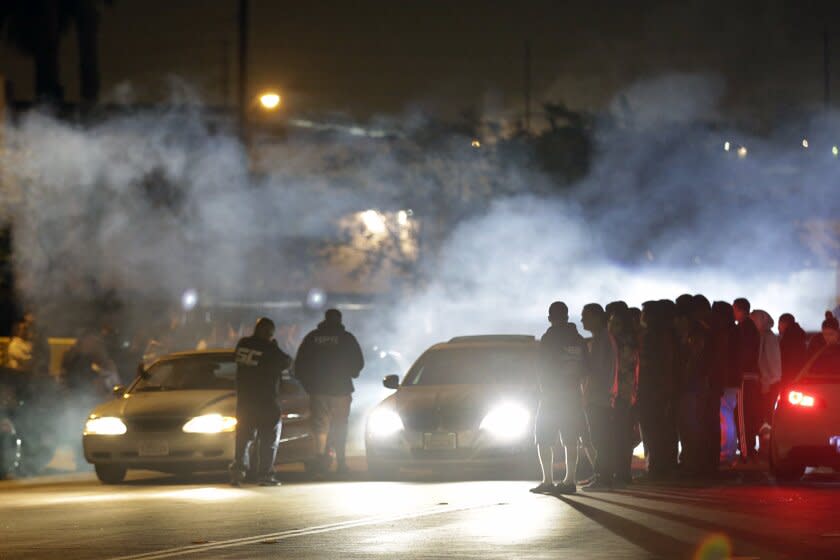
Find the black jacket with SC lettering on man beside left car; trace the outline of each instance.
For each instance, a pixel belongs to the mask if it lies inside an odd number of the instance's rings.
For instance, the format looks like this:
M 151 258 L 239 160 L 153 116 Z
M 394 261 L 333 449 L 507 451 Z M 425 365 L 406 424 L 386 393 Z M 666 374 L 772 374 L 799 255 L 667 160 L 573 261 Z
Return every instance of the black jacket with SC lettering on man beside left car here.
M 254 336 L 241 339 L 236 344 L 237 411 L 277 413 L 280 378 L 290 363 L 291 358 L 274 340 Z

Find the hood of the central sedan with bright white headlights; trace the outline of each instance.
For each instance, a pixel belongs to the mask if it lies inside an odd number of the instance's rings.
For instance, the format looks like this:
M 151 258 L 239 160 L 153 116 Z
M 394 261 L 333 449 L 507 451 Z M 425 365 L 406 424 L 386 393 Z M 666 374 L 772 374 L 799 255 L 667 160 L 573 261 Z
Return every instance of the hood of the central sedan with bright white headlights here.
M 433 385 L 400 387 L 382 402 L 393 406 L 408 430 L 476 429 L 491 408 L 521 403 L 534 410 L 535 396 L 521 386 Z

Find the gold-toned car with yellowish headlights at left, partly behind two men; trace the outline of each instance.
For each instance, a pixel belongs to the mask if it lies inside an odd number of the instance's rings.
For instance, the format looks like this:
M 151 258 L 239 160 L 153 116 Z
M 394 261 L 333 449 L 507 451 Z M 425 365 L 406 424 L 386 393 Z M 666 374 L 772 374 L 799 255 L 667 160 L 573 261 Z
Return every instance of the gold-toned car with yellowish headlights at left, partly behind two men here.
M 91 411 L 82 436 L 99 480 L 114 484 L 127 469 L 189 473 L 228 468 L 236 435 L 236 362 L 232 350 L 165 356 L 131 386 Z M 314 456 L 309 397 L 284 374 L 278 462 Z

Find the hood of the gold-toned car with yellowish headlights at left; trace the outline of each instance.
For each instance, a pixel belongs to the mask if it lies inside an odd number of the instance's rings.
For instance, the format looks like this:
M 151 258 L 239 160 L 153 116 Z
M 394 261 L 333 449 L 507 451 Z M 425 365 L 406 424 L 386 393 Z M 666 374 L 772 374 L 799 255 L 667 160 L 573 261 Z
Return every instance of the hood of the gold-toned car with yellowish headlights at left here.
M 234 391 L 160 391 L 129 393 L 123 398 L 103 403 L 92 414 L 121 418 L 187 417 L 202 413 L 233 414 Z

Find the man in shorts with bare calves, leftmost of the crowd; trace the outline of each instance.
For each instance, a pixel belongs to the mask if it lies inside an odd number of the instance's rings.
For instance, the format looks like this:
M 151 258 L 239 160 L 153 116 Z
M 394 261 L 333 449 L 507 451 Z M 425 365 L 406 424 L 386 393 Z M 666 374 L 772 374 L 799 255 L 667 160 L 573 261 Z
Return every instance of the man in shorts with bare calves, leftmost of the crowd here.
M 552 303 L 548 320 L 551 326 L 540 339 L 540 404 L 534 426 L 542 482 L 531 492 L 573 494 L 576 491 L 578 441 L 584 431 L 580 392 L 583 338 L 569 323 L 569 308 L 565 303 Z M 555 486 L 554 450 L 558 436 L 566 458 L 566 477 Z

